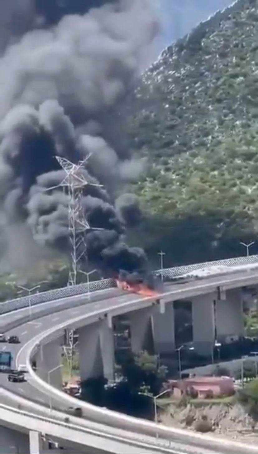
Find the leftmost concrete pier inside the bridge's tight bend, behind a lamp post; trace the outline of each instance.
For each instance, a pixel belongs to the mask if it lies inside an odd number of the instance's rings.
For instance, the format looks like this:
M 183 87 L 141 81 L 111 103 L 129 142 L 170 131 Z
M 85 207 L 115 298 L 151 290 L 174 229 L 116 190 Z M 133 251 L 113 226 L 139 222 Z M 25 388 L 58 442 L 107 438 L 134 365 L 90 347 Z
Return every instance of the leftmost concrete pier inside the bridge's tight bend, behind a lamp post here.
M 56 388 L 62 388 L 61 343 L 62 339 L 58 338 L 48 344 L 39 345 L 35 357 L 39 377 Z

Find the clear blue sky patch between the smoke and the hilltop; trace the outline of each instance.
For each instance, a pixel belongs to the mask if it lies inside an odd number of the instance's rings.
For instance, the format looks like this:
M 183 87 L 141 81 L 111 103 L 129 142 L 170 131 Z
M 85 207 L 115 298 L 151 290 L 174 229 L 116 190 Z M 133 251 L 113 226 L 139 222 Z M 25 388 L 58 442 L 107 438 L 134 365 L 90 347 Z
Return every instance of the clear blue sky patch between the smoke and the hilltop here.
M 234 0 L 152 0 L 161 17 L 162 35 L 158 39 L 161 51 L 175 39 L 184 36 L 201 20 L 206 19 Z

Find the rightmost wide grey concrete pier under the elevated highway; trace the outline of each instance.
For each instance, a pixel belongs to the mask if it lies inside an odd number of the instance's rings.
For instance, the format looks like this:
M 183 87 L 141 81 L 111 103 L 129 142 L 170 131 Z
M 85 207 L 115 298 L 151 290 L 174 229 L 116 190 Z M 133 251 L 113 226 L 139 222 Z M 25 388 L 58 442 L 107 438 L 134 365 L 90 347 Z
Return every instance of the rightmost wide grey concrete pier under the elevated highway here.
M 217 339 L 244 336 L 243 296 L 239 288 L 226 291 L 225 300 L 216 303 Z

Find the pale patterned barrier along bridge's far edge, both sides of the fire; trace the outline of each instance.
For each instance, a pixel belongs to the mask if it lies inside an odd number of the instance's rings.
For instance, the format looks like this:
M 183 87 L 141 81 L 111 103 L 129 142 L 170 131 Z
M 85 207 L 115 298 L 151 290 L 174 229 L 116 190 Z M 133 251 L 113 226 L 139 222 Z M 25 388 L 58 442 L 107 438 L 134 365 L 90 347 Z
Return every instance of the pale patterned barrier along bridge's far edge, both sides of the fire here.
M 214 260 L 212 262 L 202 262 L 194 263 L 192 265 L 183 265 L 175 266 L 173 268 L 164 268 L 163 276 L 165 280 L 169 281 L 174 277 L 182 276 L 185 273 L 189 273 L 200 268 L 209 268 L 210 266 L 237 266 L 237 265 L 247 265 L 248 263 L 258 263 L 258 255 L 252 255 L 249 257 L 234 257 L 224 260 Z M 156 270 L 155 273 L 160 272 L 161 270 Z M 89 290 L 105 290 L 109 288 L 116 287 L 116 281 L 114 279 L 102 279 L 100 281 L 92 281 L 89 284 Z M 63 287 L 55 290 L 44 291 L 42 293 L 37 293 L 32 296 L 24 296 L 22 298 L 17 298 L 14 300 L 6 301 L 0 304 L 0 315 L 6 314 L 7 312 L 15 311 L 17 309 L 22 309 L 29 306 L 35 306 L 40 303 L 45 303 L 48 301 L 55 301 L 61 298 L 67 298 L 69 296 L 82 295 L 87 293 L 88 285 L 79 284 L 71 287 Z

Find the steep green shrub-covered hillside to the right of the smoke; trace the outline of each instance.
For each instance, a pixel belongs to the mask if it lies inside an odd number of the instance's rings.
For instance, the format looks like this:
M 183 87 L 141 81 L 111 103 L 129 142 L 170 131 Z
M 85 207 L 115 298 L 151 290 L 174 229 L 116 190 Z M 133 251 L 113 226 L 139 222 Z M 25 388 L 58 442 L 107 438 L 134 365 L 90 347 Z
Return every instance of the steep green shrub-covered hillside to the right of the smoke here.
M 166 49 L 134 108 L 130 146 L 147 168 L 133 187 L 144 219 L 129 236 L 175 262 L 242 254 L 258 231 L 256 0 Z

